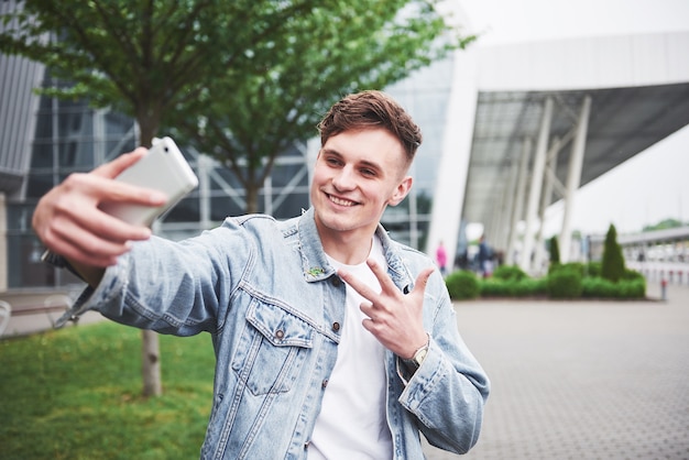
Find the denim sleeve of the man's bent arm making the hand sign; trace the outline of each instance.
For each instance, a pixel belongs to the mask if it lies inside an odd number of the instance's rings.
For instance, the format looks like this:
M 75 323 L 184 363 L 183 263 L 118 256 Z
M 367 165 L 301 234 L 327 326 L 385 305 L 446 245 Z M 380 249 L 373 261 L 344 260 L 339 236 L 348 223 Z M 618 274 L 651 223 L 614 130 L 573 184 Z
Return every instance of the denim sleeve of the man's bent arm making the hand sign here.
M 430 335 L 428 353 L 408 375 L 398 401 L 417 418 L 430 445 L 466 453 L 479 439 L 490 382 L 459 335 L 441 276 L 431 278 L 435 286 L 427 288 L 424 306 L 433 311 L 431 325 L 425 324 Z

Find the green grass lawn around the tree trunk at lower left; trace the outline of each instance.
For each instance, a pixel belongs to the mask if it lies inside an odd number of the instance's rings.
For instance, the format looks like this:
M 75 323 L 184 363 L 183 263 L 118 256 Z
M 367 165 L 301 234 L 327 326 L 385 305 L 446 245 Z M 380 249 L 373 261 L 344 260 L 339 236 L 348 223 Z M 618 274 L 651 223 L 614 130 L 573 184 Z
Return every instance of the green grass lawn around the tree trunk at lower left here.
M 197 459 L 210 336 L 161 336 L 164 395 L 142 398 L 141 332 L 105 321 L 0 340 L 0 458 Z

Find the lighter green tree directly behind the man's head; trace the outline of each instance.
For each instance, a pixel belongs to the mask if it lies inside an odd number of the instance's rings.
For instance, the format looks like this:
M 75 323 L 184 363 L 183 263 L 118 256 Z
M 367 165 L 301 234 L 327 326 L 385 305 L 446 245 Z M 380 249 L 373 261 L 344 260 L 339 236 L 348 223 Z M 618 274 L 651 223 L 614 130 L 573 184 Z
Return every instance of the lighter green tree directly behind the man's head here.
M 227 165 L 244 187 L 248 212 L 275 158 L 317 134 L 316 124 L 342 95 L 382 89 L 466 46 L 433 2 L 314 2 L 228 67 L 173 127 L 184 143 Z M 197 113 L 197 118 L 185 116 Z

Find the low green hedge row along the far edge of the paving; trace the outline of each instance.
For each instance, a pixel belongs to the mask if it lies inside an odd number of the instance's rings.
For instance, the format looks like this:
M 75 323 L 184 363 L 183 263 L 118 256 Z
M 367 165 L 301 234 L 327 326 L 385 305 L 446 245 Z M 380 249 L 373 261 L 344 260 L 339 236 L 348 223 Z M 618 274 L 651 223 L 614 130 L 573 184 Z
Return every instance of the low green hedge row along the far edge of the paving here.
M 544 277 L 532 278 L 517 266 L 499 266 L 493 276 L 479 278 L 473 272 L 457 271 L 446 278 L 450 298 L 543 297 L 632 299 L 646 296 L 646 280 L 635 271 L 612 282 L 601 277 L 600 263 L 554 264 Z

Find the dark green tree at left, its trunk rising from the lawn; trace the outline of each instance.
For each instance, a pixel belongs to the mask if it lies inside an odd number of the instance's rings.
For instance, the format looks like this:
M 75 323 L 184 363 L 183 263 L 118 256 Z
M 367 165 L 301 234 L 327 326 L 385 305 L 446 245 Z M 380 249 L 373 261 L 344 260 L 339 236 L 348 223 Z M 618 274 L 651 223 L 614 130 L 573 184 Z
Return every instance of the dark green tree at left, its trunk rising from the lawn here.
M 135 118 L 142 145 L 208 81 L 240 68 L 306 1 L 25 0 L 3 14 L 0 52 L 45 64 L 65 85 L 43 90 L 87 98 Z M 68 83 L 68 84 L 67 84 Z M 142 331 L 143 394 L 162 393 L 157 336 Z

